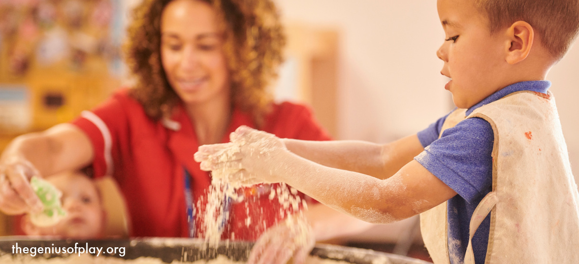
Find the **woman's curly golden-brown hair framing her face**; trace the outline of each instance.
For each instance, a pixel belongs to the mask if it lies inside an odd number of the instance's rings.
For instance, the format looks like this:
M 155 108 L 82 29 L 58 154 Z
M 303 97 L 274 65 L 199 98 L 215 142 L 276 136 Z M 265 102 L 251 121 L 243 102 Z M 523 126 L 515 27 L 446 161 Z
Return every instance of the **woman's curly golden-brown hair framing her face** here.
M 153 119 L 178 102 L 161 64 L 161 14 L 173 0 L 145 0 L 133 11 L 124 46 L 136 85 L 131 96 Z M 222 21 L 232 104 L 261 126 L 273 100 L 268 87 L 283 62 L 285 35 L 271 0 L 191 0 L 209 3 Z

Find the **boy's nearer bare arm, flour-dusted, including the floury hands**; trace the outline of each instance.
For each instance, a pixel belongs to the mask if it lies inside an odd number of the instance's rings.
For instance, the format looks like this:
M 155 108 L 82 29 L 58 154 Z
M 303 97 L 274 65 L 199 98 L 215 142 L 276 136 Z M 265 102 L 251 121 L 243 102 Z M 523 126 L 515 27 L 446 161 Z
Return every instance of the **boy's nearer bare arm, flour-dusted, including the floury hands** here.
M 232 143 L 201 146 L 195 158 L 203 170 L 226 172 L 222 177 L 229 181 L 286 182 L 321 203 L 372 223 L 405 219 L 456 195 L 415 160 L 392 177 L 378 179 L 312 162 L 285 149 L 274 135 L 247 127 L 232 134 Z

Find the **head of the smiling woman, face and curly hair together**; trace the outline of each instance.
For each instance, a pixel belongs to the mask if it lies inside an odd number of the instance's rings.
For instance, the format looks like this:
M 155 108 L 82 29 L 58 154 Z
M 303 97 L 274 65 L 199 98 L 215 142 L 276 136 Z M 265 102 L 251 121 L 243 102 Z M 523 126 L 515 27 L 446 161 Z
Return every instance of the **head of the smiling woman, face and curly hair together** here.
M 145 1 L 134 16 L 126 51 L 139 85 L 131 94 L 149 115 L 159 118 L 166 109 L 161 105 L 174 104 L 185 94 L 179 87 L 186 86 L 179 83 L 189 83 L 190 90 L 206 83 L 208 94 L 228 87 L 221 96 L 229 93 L 256 123 L 264 122 L 272 97 L 267 87 L 277 75 L 285 46 L 273 2 Z M 165 74 L 155 74 L 162 67 Z

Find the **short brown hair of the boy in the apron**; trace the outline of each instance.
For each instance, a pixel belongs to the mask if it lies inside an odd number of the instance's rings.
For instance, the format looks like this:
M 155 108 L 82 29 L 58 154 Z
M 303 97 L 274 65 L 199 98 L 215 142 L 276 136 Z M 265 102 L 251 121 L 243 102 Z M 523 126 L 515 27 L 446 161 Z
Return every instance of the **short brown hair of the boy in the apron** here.
M 579 31 L 579 0 L 475 0 L 486 14 L 491 33 L 516 21 L 529 23 L 541 44 L 560 60 Z

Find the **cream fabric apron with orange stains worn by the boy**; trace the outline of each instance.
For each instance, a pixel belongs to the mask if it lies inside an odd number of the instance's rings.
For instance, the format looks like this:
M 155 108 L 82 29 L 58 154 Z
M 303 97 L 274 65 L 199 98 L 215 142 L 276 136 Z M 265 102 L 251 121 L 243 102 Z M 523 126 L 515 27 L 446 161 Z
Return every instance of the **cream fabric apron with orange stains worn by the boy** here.
M 446 118 L 442 131 L 464 120 Z M 485 263 L 579 263 L 579 194 L 552 94 L 518 91 L 475 109 L 494 132 L 493 186 L 470 222 L 470 240 L 491 212 Z M 441 133 L 442 134 L 442 133 Z M 435 264 L 450 263 L 446 202 L 420 214 Z M 474 264 L 469 240 L 464 263 Z

